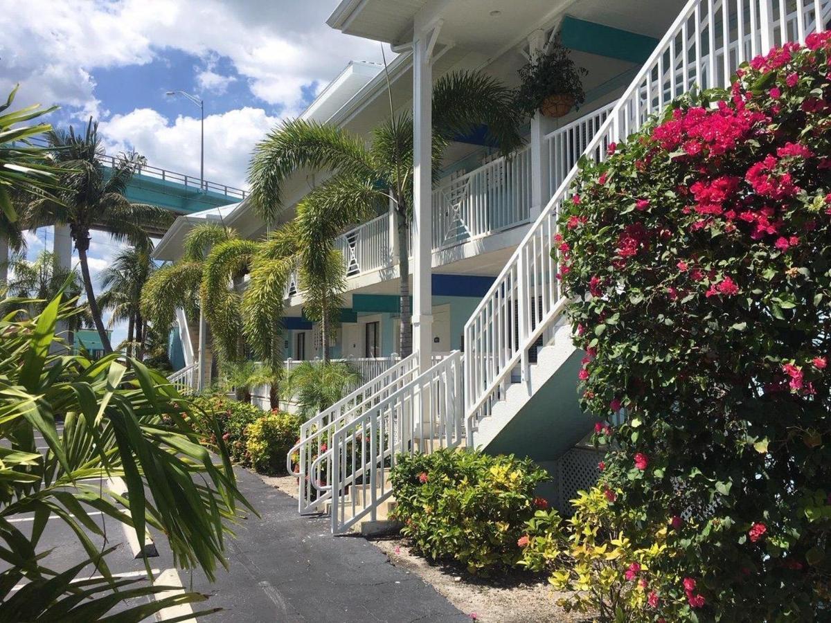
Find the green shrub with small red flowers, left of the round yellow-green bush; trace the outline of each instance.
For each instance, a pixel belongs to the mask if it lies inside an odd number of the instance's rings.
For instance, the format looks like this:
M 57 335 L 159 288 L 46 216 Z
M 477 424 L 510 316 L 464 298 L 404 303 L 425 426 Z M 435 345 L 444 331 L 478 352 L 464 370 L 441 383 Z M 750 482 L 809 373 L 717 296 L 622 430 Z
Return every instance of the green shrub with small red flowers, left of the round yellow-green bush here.
M 196 407 L 196 427 L 204 435 L 204 441 L 210 445 L 217 444 L 213 428 L 215 420 L 231 460 L 234 463 L 250 464 L 245 429 L 263 415 L 263 410 L 224 395 L 196 396 L 193 402 Z

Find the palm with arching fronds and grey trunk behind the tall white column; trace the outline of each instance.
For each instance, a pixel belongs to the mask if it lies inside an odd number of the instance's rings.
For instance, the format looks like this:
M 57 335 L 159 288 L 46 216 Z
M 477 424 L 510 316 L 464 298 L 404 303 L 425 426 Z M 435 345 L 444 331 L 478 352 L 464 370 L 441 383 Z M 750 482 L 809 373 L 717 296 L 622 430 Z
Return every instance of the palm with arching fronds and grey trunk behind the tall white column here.
M 482 124 L 487 126 L 489 138 L 509 154 L 522 142 L 521 121 L 513 92 L 494 78 L 479 71 L 440 77 L 433 87 L 434 174 L 450 141 Z M 412 214 L 412 127 L 409 113 L 396 116 L 391 110 L 391 116 L 372 132 L 367 147 L 361 137 L 341 128 L 289 120 L 258 143 L 248 169 L 251 201 L 267 222 L 273 222 L 284 207 L 286 179 L 300 169 L 331 174 L 301 204 L 317 214 L 307 218 L 307 223 L 326 219 L 332 228 L 344 228 L 366 214 L 377 213 L 379 206 L 393 206 L 400 249 L 402 356 L 412 351 L 410 262 L 406 253 Z M 322 245 L 333 243 L 327 240 Z M 317 253 L 317 257 L 324 258 L 326 253 Z

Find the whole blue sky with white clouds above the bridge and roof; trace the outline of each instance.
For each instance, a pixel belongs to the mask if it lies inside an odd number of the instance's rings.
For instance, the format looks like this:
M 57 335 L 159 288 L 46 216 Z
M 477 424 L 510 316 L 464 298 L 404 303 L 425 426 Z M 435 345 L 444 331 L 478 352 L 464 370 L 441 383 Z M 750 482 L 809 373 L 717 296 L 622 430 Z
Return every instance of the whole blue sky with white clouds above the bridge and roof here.
M 0 93 L 17 105 L 59 105 L 53 125 L 100 121 L 107 150 L 135 149 L 150 164 L 199 174 L 205 102 L 205 177 L 244 187 L 254 143 L 299 114 L 351 60 L 381 47 L 326 26 L 337 0 L 28 0 L 0 12 Z M 389 57 L 389 56 L 388 56 Z M 33 257 L 52 233 L 28 236 Z M 91 269 L 119 245 L 96 233 Z M 123 339 L 116 327 L 114 340 Z

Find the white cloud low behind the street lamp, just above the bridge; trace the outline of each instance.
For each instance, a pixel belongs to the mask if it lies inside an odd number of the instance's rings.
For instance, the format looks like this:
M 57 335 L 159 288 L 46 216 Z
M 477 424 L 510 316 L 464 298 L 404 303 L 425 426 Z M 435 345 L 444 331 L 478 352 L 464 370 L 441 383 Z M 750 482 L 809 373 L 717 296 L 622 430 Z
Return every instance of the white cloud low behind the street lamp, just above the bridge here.
M 254 144 L 278 121 L 262 108 L 248 107 L 205 117 L 205 179 L 244 188 Z M 140 108 L 102 122 L 101 133 L 111 153 L 135 147 L 154 166 L 199 173 L 197 117 L 169 120 L 155 110 Z

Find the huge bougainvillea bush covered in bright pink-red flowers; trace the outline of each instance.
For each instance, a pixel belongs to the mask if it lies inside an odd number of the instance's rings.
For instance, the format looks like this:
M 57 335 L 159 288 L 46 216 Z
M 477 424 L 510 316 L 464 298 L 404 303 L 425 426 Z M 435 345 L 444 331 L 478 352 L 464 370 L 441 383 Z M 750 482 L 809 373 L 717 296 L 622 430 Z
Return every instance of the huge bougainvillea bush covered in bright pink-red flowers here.
M 648 621 L 831 616 L 831 40 L 806 43 L 609 145 L 563 204 L 583 407 L 625 418 L 600 486 L 627 537 L 673 527 Z

